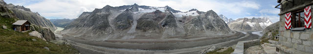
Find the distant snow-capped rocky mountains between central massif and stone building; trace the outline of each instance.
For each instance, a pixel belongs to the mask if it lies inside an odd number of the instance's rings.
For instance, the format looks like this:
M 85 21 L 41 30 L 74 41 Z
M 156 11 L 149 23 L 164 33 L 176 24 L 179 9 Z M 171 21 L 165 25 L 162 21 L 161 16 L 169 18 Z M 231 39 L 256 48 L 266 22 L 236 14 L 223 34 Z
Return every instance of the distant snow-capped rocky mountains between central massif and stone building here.
M 238 18 L 227 23 L 231 30 L 235 31 L 262 31 L 272 24 L 269 18 Z

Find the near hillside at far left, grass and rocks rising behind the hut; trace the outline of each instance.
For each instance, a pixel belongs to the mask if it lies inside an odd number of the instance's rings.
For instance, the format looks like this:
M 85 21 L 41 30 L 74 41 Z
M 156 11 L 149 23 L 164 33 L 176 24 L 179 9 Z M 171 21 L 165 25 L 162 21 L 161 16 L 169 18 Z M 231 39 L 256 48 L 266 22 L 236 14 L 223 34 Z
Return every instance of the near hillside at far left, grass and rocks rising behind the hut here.
M 51 30 L 34 26 L 31 31 L 42 33 L 47 41 L 28 35 L 28 32 L 16 32 L 12 28 L 12 23 L 19 18 L 5 5 L 0 4 L 0 54 L 75 54 L 78 53 L 70 45 L 57 45 L 51 42 L 53 35 Z

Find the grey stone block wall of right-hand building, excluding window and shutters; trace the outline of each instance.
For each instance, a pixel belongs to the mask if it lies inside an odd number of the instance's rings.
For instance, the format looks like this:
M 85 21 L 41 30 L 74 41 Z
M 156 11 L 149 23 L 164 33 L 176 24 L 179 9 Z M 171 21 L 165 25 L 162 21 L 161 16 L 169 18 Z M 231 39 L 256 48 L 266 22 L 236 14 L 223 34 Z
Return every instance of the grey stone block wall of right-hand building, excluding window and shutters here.
M 293 0 L 291 0 L 293 1 Z M 294 4 L 293 4 L 294 3 Z M 291 31 L 285 29 L 285 15 L 287 12 L 297 11 L 304 9 L 304 7 L 311 5 L 312 0 L 294 0 L 294 2 L 284 2 L 279 22 L 279 43 L 278 47 L 282 53 L 294 54 L 296 52 L 302 52 L 307 54 L 313 54 L 313 30 L 306 29 L 305 31 Z M 293 5 L 292 5 L 293 4 Z M 313 12 L 311 10 L 311 12 Z M 312 13 L 311 13 L 312 14 Z M 313 15 L 313 14 L 312 14 Z M 288 51 L 286 49 L 294 49 L 295 51 Z

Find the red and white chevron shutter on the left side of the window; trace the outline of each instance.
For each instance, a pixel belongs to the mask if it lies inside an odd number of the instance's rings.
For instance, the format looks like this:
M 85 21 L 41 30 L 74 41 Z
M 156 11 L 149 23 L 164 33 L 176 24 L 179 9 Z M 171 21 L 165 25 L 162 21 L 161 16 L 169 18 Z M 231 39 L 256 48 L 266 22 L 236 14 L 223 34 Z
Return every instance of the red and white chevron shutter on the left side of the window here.
M 285 14 L 285 29 L 291 28 L 291 12 Z

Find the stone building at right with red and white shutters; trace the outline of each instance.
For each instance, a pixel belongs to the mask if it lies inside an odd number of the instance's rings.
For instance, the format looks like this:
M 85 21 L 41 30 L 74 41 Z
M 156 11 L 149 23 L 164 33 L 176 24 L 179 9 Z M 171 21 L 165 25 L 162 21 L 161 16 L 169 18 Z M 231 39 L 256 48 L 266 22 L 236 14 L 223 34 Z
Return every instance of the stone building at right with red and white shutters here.
M 277 0 L 281 54 L 313 54 L 313 0 Z M 280 7 L 278 7 L 280 6 Z

